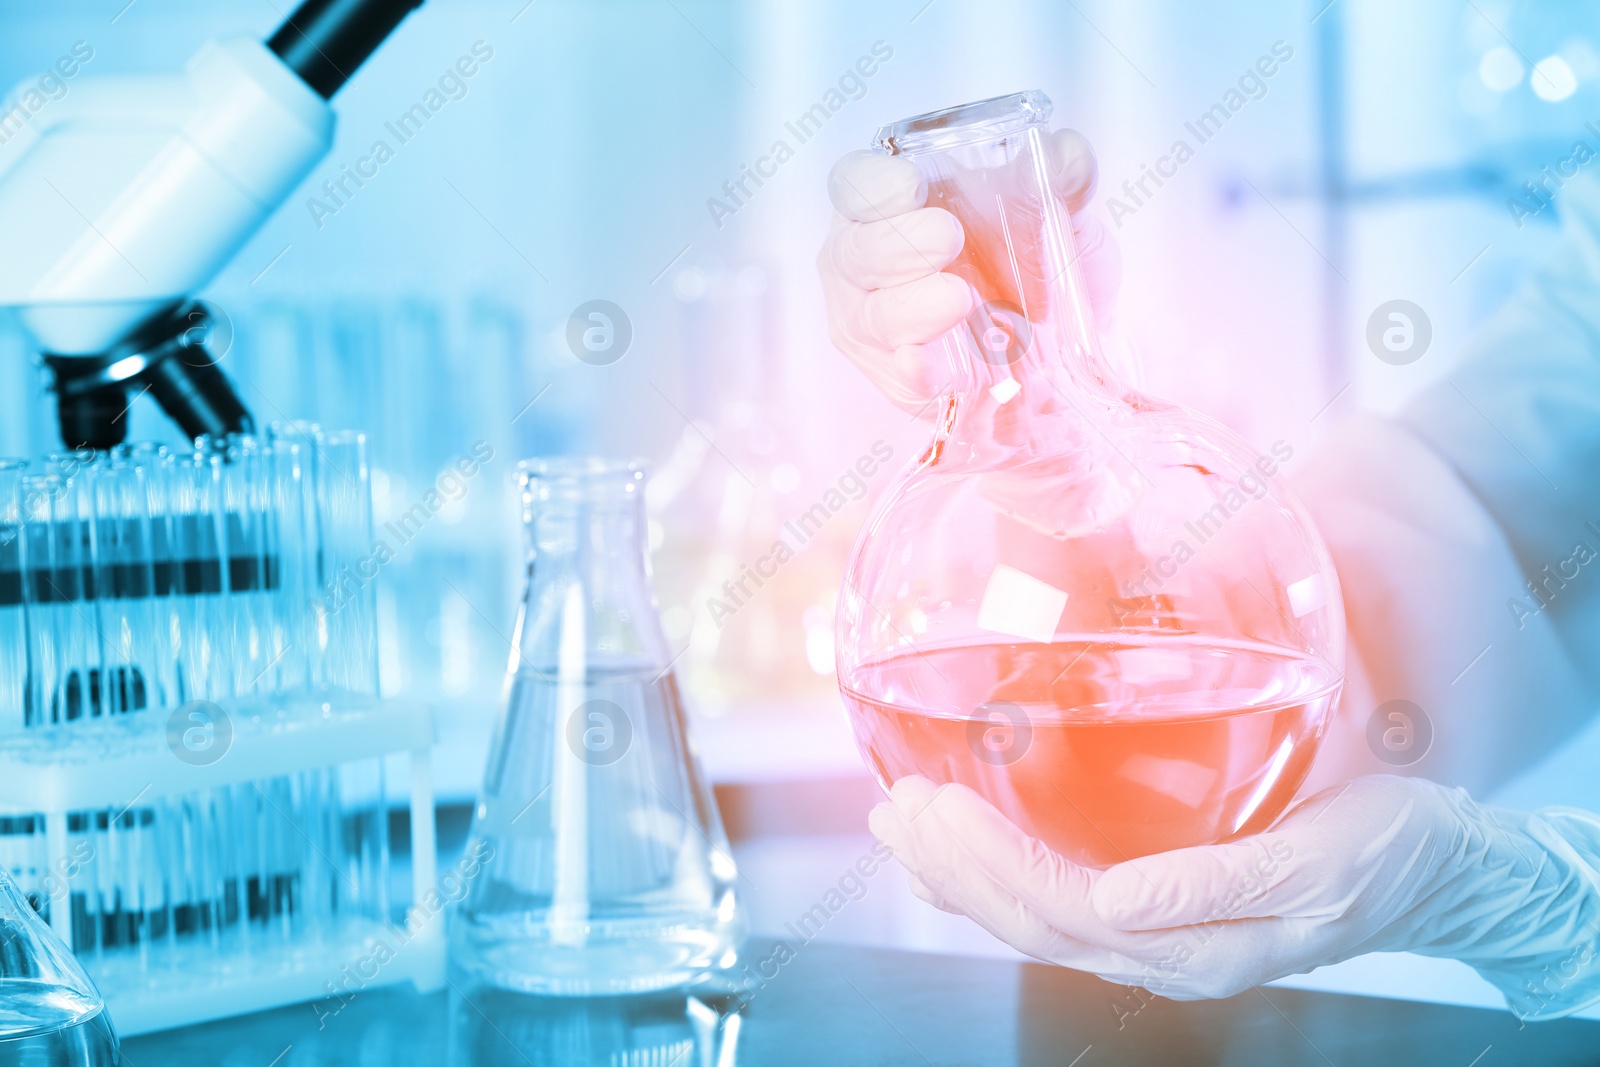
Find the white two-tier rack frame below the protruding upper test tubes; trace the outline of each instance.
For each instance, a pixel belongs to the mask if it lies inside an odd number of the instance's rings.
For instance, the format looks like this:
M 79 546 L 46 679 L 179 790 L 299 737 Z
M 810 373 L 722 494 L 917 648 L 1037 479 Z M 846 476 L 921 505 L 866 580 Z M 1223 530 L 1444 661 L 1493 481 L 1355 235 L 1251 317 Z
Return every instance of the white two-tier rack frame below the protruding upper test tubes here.
M 34 854 L 13 854 L 11 864 L 94 977 L 117 1029 L 146 1033 L 299 1001 L 339 1005 L 363 989 L 405 981 L 422 992 L 442 989 L 432 712 L 341 696 L 238 702 L 203 717 L 211 721 L 197 725 L 179 707 L 93 731 L 30 729 L 0 747 L 0 813 L 43 827 L 27 838 Z M 226 752 L 206 763 L 174 758 L 182 731 L 205 728 L 229 731 Z M 395 755 L 410 765 L 411 904 L 403 918 L 389 899 L 384 827 L 384 763 Z M 318 774 L 333 781 L 363 765 L 376 771 L 376 790 L 363 790 L 357 803 L 346 790 L 331 827 L 302 825 L 270 795 L 274 782 Z M 232 821 L 219 814 L 240 797 L 261 803 L 246 803 L 243 817 Z M 130 817 L 138 813 L 162 817 L 141 824 Z M 363 819 L 373 822 L 365 841 Z M 291 854 L 250 846 L 251 833 L 262 843 L 262 821 L 277 822 Z M 304 881 L 269 891 L 275 869 Z M 117 902 L 117 913 L 138 915 L 142 926 L 131 944 L 106 945 L 107 912 L 94 899 L 104 904 L 107 885 L 147 894 Z M 294 899 L 283 901 L 285 893 Z M 251 917 L 259 901 L 266 921 Z

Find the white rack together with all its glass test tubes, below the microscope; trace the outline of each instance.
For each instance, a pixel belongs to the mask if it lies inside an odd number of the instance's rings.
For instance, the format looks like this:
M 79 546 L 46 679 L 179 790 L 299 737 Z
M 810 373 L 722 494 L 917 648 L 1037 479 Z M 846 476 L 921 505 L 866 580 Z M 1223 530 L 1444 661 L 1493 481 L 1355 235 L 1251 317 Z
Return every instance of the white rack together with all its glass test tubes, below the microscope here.
M 123 1033 L 443 981 L 432 718 L 378 696 L 371 541 L 355 432 L 0 459 L 0 864 Z

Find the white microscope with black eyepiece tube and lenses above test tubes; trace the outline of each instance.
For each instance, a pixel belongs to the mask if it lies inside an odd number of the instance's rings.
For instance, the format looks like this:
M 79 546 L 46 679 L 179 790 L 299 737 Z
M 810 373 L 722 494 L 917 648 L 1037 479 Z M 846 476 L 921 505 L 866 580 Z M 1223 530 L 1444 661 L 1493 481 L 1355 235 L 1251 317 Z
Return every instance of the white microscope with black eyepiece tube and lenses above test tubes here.
M 85 78 L 21 112 L 0 142 L 0 307 L 50 370 L 67 448 L 120 445 L 144 392 L 189 437 L 253 429 L 192 296 L 328 152 L 328 101 L 421 3 L 304 0 L 181 75 Z

